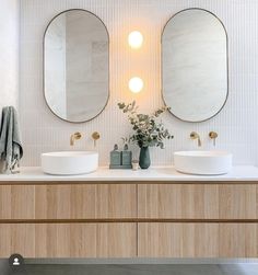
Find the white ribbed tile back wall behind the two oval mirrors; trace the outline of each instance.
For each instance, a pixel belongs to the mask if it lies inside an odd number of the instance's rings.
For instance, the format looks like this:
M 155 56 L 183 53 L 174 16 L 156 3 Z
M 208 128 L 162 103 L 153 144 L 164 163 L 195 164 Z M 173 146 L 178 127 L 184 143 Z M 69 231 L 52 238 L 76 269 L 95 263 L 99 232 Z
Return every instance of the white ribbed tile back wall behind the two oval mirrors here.
M 105 111 L 84 124 L 70 124 L 55 117 L 43 95 L 43 34 L 57 13 L 81 8 L 97 14 L 110 35 L 110 99 Z M 234 154 L 235 164 L 258 162 L 258 1 L 257 0 L 22 0 L 21 1 L 21 117 L 24 140 L 24 165 L 38 165 L 44 151 L 68 150 L 70 134 L 80 130 L 83 140 L 75 149 L 92 149 L 91 134 L 101 133 L 97 144 L 101 164 L 108 164 L 115 142 L 130 133 L 126 116 L 117 103 L 137 100 L 142 112 L 153 112 L 163 104 L 161 96 L 161 32 L 166 21 L 179 10 L 203 8 L 224 23 L 230 43 L 230 95 L 222 112 L 204 123 L 184 123 L 171 114 L 164 123 L 175 135 L 166 149 L 152 149 L 152 163 L 167 165 L 173 151 L 195 149 L 189 133 L 200 133 L 203 148 L 212 148 L 210 130 L 219 133 L 216 147 Z M 139 30 L 144 35 L 143 47 L 132 50 L 127 35 Z M 140 94 L 128 91 L 128 79 L 144 80 Z M 134 154 L 137 154 L 137 149 Z

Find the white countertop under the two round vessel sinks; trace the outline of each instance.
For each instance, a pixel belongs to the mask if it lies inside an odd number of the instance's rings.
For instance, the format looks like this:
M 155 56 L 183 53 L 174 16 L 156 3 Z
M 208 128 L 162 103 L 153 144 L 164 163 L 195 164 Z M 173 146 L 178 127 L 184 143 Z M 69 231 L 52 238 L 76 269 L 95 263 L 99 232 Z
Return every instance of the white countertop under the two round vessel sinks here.
M 177 172 L 173 167 L 150 168 L 148 170 L 109 170 L 98 168 L 94 173 L 83 175 L 49 175 L 40 168 L 21 168 L 17 174 L 0 174 L 0 182 L 17 181 L 258 181 L 258 168 L 251 165 L 233 167 L 224 175 L 191 175 Z M 1 183 L 0 183 L 1 184 Z

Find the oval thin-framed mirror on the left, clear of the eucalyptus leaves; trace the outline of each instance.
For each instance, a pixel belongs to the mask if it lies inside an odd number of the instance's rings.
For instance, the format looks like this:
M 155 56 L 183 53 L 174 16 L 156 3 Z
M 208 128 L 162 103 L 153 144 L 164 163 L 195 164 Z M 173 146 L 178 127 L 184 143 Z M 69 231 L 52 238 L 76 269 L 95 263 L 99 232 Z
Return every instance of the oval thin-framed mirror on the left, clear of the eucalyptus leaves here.
M 99 18 L 85 10 L 55 16 L 44 35 L 44 93 L 58 117 L 87 122 L 109 96 L 109 36 Z

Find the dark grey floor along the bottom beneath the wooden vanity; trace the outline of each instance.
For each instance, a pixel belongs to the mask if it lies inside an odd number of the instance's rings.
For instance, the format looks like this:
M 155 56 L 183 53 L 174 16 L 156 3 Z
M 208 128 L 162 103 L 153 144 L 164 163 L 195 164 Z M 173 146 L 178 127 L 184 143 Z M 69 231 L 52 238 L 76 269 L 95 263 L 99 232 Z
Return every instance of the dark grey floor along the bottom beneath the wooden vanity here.
M 228 264 L 25 264 L 12 270 L 0 260 L 1 275 L 258 275 L 258 263 Z

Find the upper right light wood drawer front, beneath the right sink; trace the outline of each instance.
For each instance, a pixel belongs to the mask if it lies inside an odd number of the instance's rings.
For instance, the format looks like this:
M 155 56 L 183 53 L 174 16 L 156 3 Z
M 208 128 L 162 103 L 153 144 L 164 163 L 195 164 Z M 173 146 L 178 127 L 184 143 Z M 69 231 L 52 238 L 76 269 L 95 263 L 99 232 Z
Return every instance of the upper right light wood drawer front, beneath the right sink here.
M 257 219 L 256 184 L 139 184 L 139 218 Z

